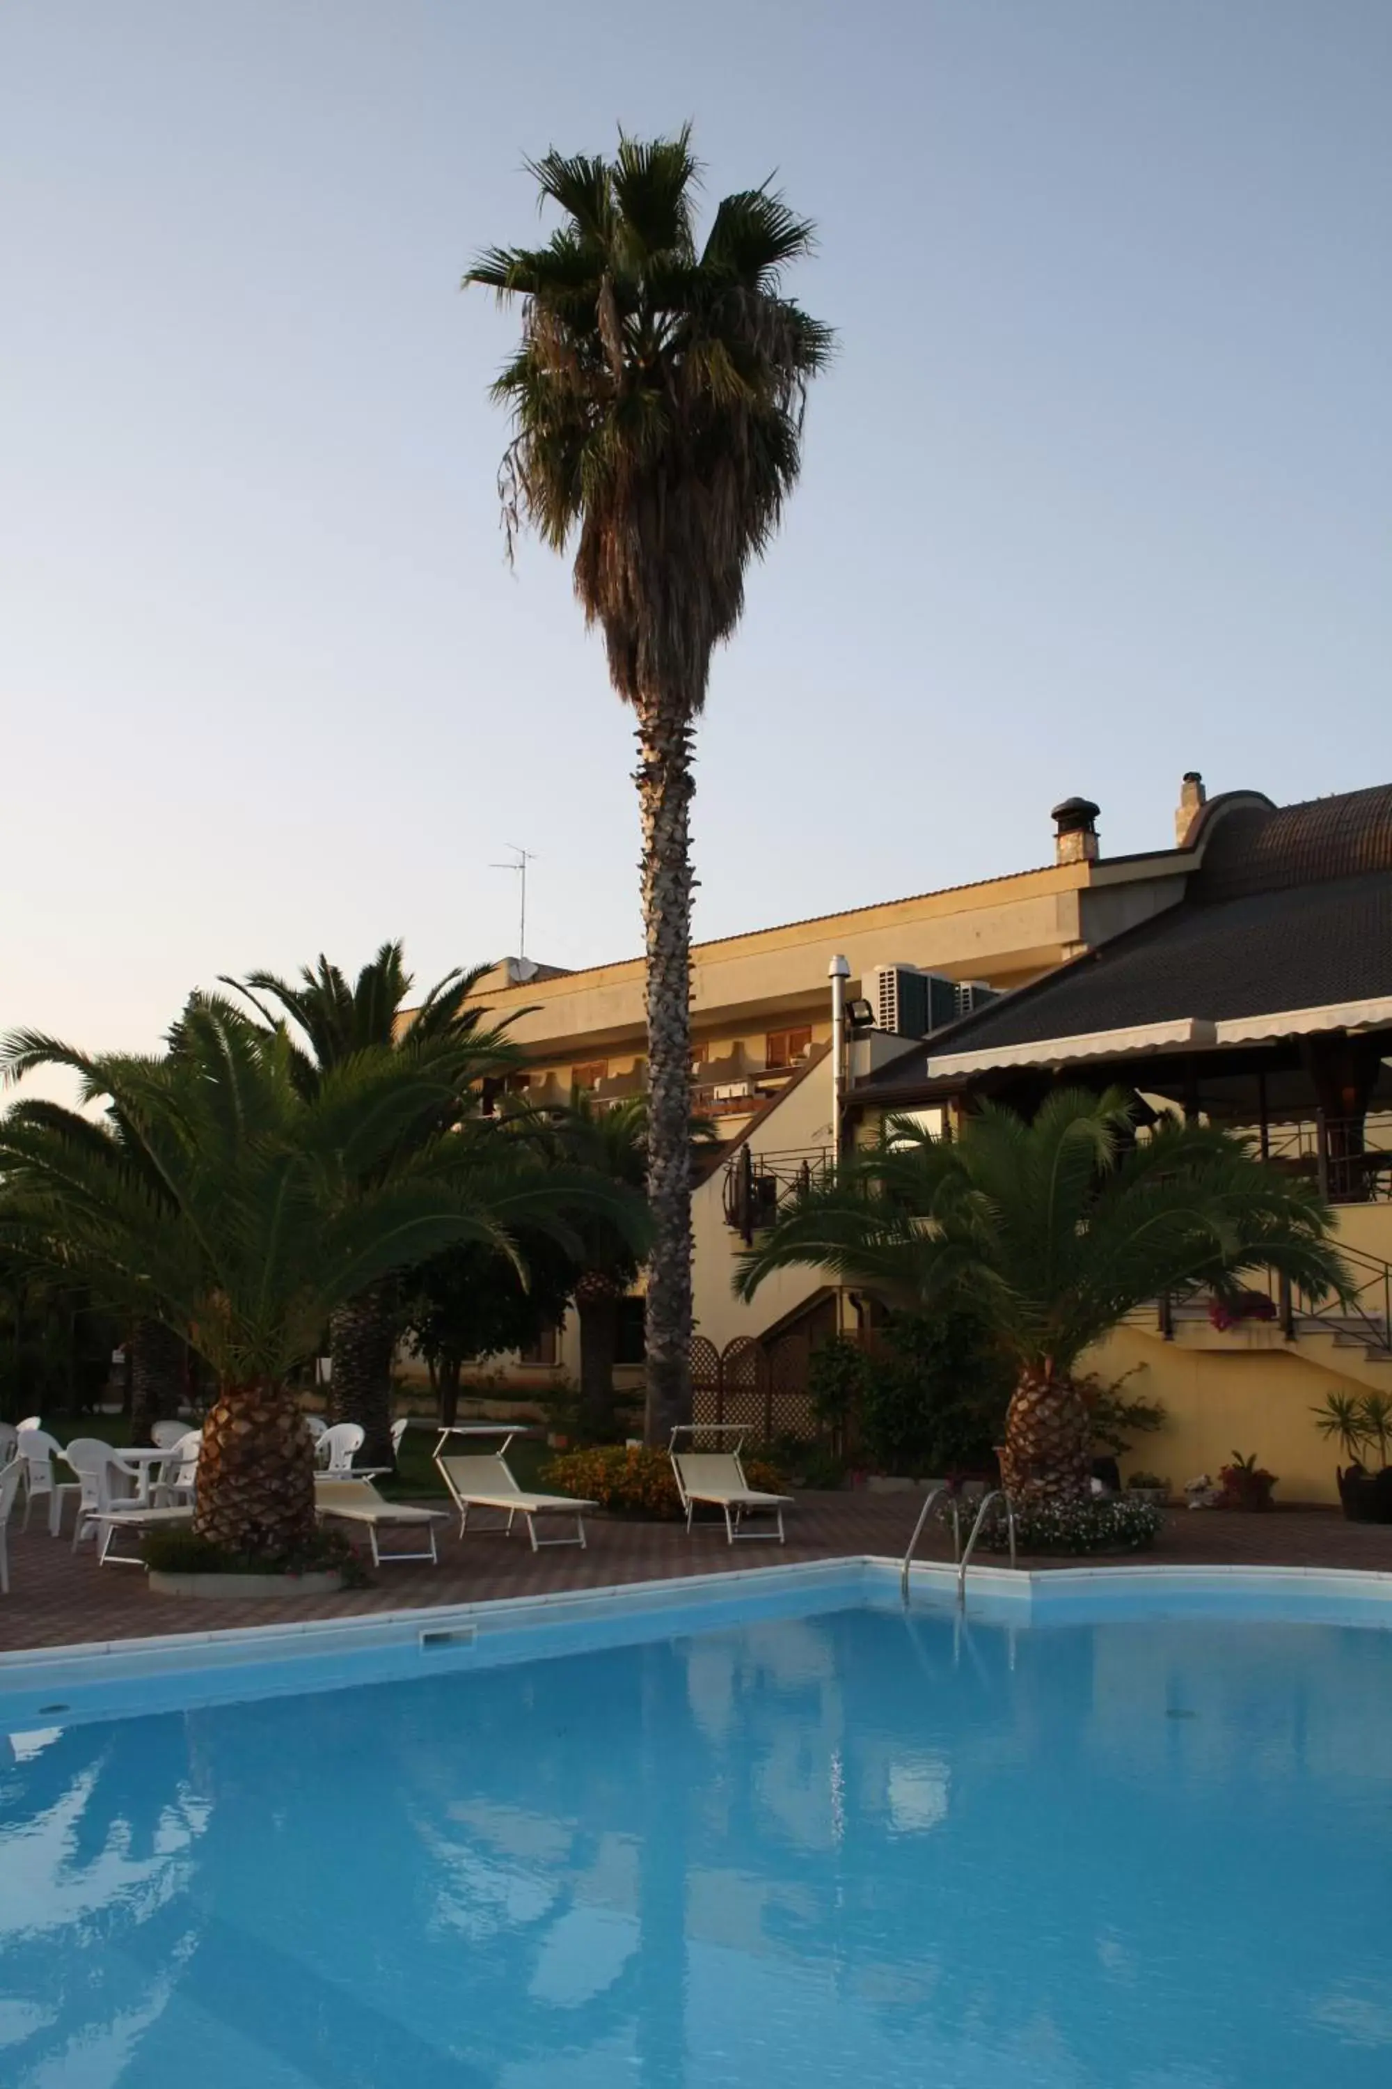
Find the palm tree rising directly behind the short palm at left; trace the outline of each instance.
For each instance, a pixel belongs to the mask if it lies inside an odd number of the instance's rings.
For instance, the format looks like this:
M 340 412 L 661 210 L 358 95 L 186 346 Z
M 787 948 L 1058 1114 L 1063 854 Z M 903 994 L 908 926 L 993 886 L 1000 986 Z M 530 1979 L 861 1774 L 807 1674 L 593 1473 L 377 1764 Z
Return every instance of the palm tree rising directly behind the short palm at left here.
M 474 1088 L 484 1078 L 522 1065 L 522 1053 L 503 1036 L 503 1024 L 486 1022 L 488 1011 L 472 996 L 488 967 L 455 967 L 411 1007 L 413 976 L 405 969 L 401 942 L 384 942 L 357 980 L 328 957 L 305 965 L 298 980 L 273 971 L 253 971 L 227 980 L 244 994 L 267 1028 L 292 1026 L 290 1067 L 303 1095 L 313 1097 L 328 1074 L 363 1051 L 397 1051 L 419 1067 L 445 1076 L 445 1122 L 476 1109 Z M 271 1007 L 267 1007 L 271 1003 Z M 426 1111 L 403 1136 L 430 1139 L 440 1111 Z M 367 1184 L 371 1187 L 371 1184 Z M 401 1331 L 394 1278 L 365 1287 L 342 1299 L 330 1316 L 330 1414 L 338 1423 L 365 1429 L 363 1458 L 392 1462 L 392 1362 Z

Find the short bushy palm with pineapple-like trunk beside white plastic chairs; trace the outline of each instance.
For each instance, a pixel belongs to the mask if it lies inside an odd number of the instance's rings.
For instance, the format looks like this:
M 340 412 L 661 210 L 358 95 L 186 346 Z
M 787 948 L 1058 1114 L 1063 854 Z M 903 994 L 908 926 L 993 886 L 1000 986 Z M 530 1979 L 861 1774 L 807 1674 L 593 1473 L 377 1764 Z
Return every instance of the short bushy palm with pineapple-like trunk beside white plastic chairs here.
M 0 1247 L 207 1358 L 219 1393 L 196 1527 L 244 1554 L 284 1554 L 313 1529 L 309 1433 L 286 1377 L 344 1299 L 461 1241 L 513 1253 L 513 1226 L 570 1243 L 568 1201 L 616 1216 L 622 1201 L 499 1157 L 470 1128 L 403 1149 L 449 1082 L 361 1051 L 307 1099 L 286 1034 L 227 1003 L 192 1003 L 165 1057 L 88 1061 L 83 1088 L 104 1118 L 33 1101 L 0 1120 Z

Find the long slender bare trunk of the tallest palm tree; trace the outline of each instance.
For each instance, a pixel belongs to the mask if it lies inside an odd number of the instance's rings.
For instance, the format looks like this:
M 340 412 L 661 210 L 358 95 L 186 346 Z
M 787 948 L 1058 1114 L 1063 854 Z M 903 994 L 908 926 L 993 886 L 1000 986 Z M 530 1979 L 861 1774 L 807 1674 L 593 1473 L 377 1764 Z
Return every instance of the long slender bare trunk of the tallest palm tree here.
M 670 698 L 639 706 L 647 946 L 649 1443 L 691 1421 L 691 727 Z

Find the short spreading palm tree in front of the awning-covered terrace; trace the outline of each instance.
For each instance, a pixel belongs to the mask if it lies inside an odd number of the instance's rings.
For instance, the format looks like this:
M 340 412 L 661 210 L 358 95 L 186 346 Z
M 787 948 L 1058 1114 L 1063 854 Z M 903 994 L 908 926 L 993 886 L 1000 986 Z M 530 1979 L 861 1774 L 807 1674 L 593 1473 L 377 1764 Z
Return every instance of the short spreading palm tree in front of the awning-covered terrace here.
M 1089 1492 L 1081 1354 L 1135 1306 L 1277 1270 L 1315 1297 L 1344 1291 L 1317 1189 L 1246 1141 L 1165 1120 L 1135 1139 L 1112 1088 L 1052 1095 L 1033 1122 L 983 1105 L 960 1139 L 891 1118 L 881 1143 L 803 1191 L 741 1258 L 753 1297 L 812 1266 L 916 1314 L 970 1304 L 1014 1364 L 1002 1479 L 1016 1500 Z

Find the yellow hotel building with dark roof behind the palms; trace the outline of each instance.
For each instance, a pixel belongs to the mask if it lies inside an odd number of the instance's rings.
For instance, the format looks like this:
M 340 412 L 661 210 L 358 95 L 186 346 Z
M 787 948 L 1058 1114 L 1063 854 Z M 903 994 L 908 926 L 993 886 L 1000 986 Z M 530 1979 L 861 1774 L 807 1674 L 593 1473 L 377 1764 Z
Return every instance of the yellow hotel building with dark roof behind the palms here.
M 1137 1439 L 1129 1466 L 1179 1489 L 1233 1450 L 1256 1452 L 1279 1475 L 1279 1498 L 1331 1500 L 1336 1452 L 1309 1410 L 1327 1391 L 1392 1393 L 1379 1291 L 1392 1264 L 1392 913 L 1379 946 L 1379 909 L 1392 907 L 1392 790 L 1319 806 L 1319 817 L 1275 808 L 1258 792 L 1208 804 L 1190 775 L 1173 848 L 1106 856 L 1098 808 L 1066 800 L 1054 808 L 1054 861 L 1037 869 L 697 944 L 695 1107 L 720 1136 L 693 1189 L 699 1383 L 726 1370 L 722 1398 L 728 1385 L 758 1423 L 758 1362 L 776 1425 L 812 1345 L 862 1327 L 862 1301 L 814 1270 L 781 1272 L 751 1306 L 730 1287 L 751 1230 L 826 1164 L 837 1136 L 870 1136 L 887 1109 L 952 1116 L 977 1095 L 1029 1109 L 1054 1080 L 1123 1080 L 1156 1107 L 1250 1128 L 1277 1164 L 1323 1170 L 1363 1287 L 1342 1320 L 1296 1312 L 1223 1333 L 1198 1301 L 1165 1327 L 1158 1312 L 1133 1316 L 1087 1360 L 1165 1408 L 1165 1431 Z M 868 1005 L 841 1070 L 839 1124 L 833 957 L 849 967 L 847 1003 Z M 950 1013 L 922 1038 L 918 1026 L 885 1019 L 885 982 L 897 980 L 904 999 L 904 976 L 914 984 L 925 973 L 1002 999 Z M 601 1103 L 643 1090 L 641 959 L 584 971 L 505 961 L 482 992 L 513 1017 L 530 1101 L 561 1103 L 574 1086 Z M 1087 992 L 1106 1022 L 1096 1009 L 1077 1015 Z M 1344 1151 L 1354 1116 L 1367 1159 Z M 620 1389 L 641 1385 L 639 1339 L 634 1310 Z M 505 1395 L 576 1377 L 574 1324 L 486 1372 Z

